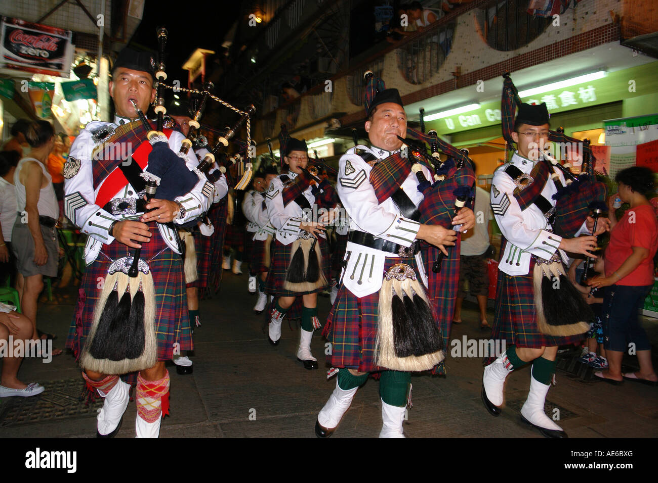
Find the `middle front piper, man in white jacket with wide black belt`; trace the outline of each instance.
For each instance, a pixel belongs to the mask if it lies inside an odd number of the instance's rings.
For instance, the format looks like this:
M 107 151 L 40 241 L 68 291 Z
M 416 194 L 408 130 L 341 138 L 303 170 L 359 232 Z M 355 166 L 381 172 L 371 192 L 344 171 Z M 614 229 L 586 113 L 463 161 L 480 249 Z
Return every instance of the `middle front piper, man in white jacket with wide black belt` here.
M 384 89 L 383 81 L 371 78 L 365 108 L 372 147 L 347 150 L 338 168 L 338 195 L 350 232 L 342 283 L 323 331 L 332 344 L 328 362 L 338 368 L 336 389 L 315 425 L 316 436 L 323 438 L 334 432 L 357 389 L 374 372 L 381 376 L 380 437 L 403 438 L 411 371 L 432 369 L 443 359 L 438 323 L 423 287 L 418 240 L 443 248 L 455 244 L 456 233 L 418 222 L 423 195 L 411 169 L 403 179 L 387 175 L 389 163 L 409 163 L 400 152 L 407 115 L 397 89 Z M 421 170 L 432 179 L 427 166 Z M 395 189 L 389 194 L 390 186 Z M 453 222 L 469 229 L 472 211 L 463 209 Z M 410 327 L 415 343 L 408 338 Z

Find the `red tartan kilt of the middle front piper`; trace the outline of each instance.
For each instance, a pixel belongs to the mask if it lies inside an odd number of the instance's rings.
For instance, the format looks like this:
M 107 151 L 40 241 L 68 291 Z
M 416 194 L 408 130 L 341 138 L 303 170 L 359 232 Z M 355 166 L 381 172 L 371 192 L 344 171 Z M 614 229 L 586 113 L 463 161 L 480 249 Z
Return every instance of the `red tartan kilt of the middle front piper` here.
M 411 265 L 418 273 L 415 258 L 386 258 L 384 271 L 395 264 Z M 388 371 L 376 365 L 378 327 L 379 292 L 358 298 L 340 284 L 336 302 L 322 330 L 322 336 L 332 344 L 332 353 L 327 357 L 327 362 L 332 367 L 347 367 L 361 372 Z

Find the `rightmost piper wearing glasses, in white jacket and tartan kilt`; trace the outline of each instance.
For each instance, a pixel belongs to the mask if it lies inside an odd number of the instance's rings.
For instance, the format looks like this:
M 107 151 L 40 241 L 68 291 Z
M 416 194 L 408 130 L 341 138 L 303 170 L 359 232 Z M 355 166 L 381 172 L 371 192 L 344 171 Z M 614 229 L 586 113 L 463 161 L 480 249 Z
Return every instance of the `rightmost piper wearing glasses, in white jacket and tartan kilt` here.
M 590 217 L 582 220 L 574 238 L 553 233 L 557 187 L 550 175 L 542 177 L 542 170 L 553 172 L 553 168 L 547 168 L 550 165 L 540 155 L 548 135 L 546 104 L 520 104 L 511 133 L 518 150 L 493 173 L 492 210 L 503 240 L 492 338 L 505 340 L 507 350 L 485 367 L 482 400 L 492 415 L 499 415 L 505 379 L 514 369 L 532 363 L 530 392 L 521 407 L 521 419 L 547 438 L 566 438 L 562 428 L 544 413 L 544 403 L 558 346 L 580 342 L 588 323 L 567 324 L 574 313 L 580 317 L 586 310 L 579 305 L 578 292 L 570 292 L 568 279 L 558 275 L 560 265 L 567 261 L 565 252 L 596 258 L 592 252 L 597 244 L 590 235 L 594 225 Z M 564 185 L 564 175 L 559 171 L 557 175 Z M 599 218 L 596 234 L 608 225 L 607 219 Z

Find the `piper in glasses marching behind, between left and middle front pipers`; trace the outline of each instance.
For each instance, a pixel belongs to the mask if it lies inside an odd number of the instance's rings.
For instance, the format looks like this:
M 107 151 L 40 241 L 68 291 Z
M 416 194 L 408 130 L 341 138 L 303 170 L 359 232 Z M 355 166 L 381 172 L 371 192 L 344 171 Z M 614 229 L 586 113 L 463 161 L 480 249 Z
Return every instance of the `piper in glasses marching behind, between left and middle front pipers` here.
M 324 223 L 313 221 L 311 207 L 334 208 L 336 194 L 322 181 L 314 186 L 307 172 L 309 163 L 306 141 L 288 137 L 282 129 L 280 152 L 288 173 L 272 180 L 265 195 L 270 223 L 276 228 L 272 261 L 265 292 L 274 296 L 268 340 L 276 346 L 281 338 L 281 325 L 295 298 L 301 296 L 301 331 L 297 359 L 306 369 L 317 369 L 311 354 L 313 331 L 320 328 L 318 292 L 327 285 L 329 261 Z

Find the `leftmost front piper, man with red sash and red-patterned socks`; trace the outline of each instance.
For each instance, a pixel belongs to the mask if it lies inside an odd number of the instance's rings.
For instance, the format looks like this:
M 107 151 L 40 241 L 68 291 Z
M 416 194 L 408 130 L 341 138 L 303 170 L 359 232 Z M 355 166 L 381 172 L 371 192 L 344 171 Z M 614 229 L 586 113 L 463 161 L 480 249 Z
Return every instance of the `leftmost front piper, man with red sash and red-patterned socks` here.
M 154 71 L 149 54 L 128 48 L 119 53 L 109 84 L 114 122 L 90 122 L 64 166 L 66 216 L 89 235 L 88 267 L 66 347 L 80 359 L 88 387 L 105 398 L 97 417 L 101 438 L 118 432 L 130 388 L 119 376 L 132 371 L 139 371 L 137 436 L 157 437 L 168 413 L 164 361 L 192 348 L 181 248 L 170 223 L 180 225 L 205 212 L 213 185 L 191 172 L 195 159 L 177 156 L 184 139 L 180 131 L 164 129 L 149 143 L 136 134 L 141 126 L 131 121 L 155 99 Z M 132 159 L 117 154 L 126 147 Z M 166 168 L 193 175 L 194 184 L 182 196 L 144 202 L 145 182 L 149 189 L 157 177 L 151 165 L 163 156 L 171 163 Z M 158 190 L 166 179 L 160 174 Z

